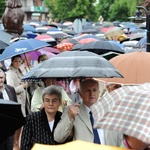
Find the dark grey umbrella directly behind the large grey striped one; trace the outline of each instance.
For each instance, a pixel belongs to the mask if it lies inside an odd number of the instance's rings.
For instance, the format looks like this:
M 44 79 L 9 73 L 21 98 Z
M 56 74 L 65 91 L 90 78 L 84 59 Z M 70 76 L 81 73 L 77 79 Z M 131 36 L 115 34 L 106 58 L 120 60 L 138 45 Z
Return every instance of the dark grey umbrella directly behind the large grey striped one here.
M 83 45 L 80 51 L 90 51 L 96 54 L 104 54 L 109 51 L 124 53 L 124 50 L 115 43 L 108 41 L 96 41 Z

